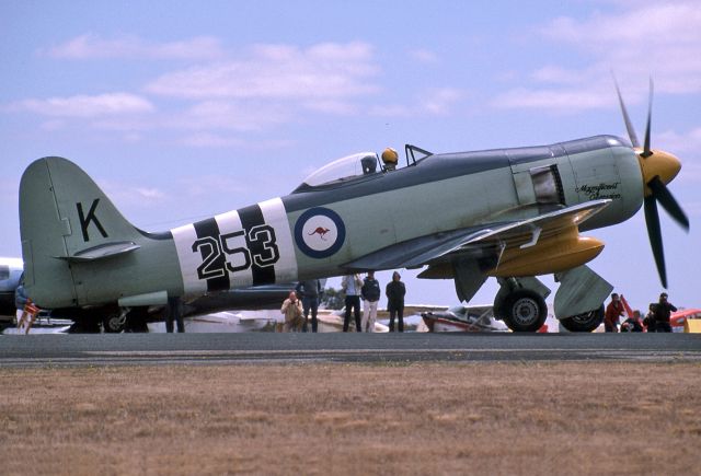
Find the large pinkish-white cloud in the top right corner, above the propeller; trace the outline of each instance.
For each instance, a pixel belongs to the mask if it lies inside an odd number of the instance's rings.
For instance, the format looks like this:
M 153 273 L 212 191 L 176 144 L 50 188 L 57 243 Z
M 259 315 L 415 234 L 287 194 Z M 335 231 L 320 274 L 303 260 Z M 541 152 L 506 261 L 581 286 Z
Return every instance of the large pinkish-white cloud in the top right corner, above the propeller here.
M 620 5 L 625 11 L 595 13 L 586 20 L 562 16 L 543 26 L 539 31 L 543 38 L 559 46 L 570 44 L 590 57 L 591 62 L 579 68 L 541 66 L 529 74 L 533 86 L 508 91 L 493 105 L 570 112 L 614 107 L 611 71 L 621 79 L 627 103 L 631 104 L 646 100 L 651 76 L 656 93 L 700 93 L 698 3 Z

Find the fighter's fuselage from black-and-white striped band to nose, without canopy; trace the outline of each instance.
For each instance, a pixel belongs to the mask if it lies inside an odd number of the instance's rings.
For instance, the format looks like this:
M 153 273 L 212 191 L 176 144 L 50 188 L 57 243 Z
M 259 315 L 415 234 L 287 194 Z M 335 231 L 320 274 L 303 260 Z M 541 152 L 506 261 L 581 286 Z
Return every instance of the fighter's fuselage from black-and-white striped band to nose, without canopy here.
M 597 136 L 545 147 L 429 155 L 172 230 L 185 294 L 337 276 L 360 256 L 418 236 L 537 217 L 600 198 L 586 230 L 632 217 L 637 158 Z M 584 231 L 584 230 L 582 230 Z

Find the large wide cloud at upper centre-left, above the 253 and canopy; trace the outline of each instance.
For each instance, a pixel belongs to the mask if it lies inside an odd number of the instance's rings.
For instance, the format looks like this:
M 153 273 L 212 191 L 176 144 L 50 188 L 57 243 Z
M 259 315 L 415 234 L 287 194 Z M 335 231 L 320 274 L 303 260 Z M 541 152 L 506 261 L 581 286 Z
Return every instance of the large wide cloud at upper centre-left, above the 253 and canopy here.
M 258 45 L 235 60 L 163 74 L 146 89 L 195 100 L 338 100 L 378 91 L 370 82 L 378 71 L 372 59 L 365 43 Z

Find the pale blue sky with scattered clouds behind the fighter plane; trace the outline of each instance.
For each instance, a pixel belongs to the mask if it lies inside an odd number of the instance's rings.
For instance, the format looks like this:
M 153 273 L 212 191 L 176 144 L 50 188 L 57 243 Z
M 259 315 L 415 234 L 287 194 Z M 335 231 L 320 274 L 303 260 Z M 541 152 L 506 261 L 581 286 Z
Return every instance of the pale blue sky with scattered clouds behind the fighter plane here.
M 625 137 L 613 72 L 641 138 L 654 79 L 652 146 L 680 158 L 669 189 L 691 221 L 685 233 L 660 211 L 669 300 L 701 306 L 696 1 L 4 0 L 0 32 L 0 256 L 21 255 L 20 177 L 42 156 L 72 160 L 163 231 L 286 195 L 355 152 Z M 587 235 L 607 243 L 596 272 L 634 309 L 656 301 L 642 210 Z M 458 303 L 452 281 L 415 275 L 407 302 Z

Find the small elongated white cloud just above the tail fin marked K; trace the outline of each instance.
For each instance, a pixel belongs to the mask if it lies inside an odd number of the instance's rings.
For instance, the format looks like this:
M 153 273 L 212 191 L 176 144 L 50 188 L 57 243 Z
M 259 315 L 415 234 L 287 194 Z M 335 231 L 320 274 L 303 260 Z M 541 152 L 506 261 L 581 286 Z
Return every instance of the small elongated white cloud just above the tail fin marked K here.
M 154 111 L 153 105 L 148 100 L 129 93 L 25 100 L 15 103 L 12 108 L 30 111 L 45 116 L 82 118 L 142 114 Z

